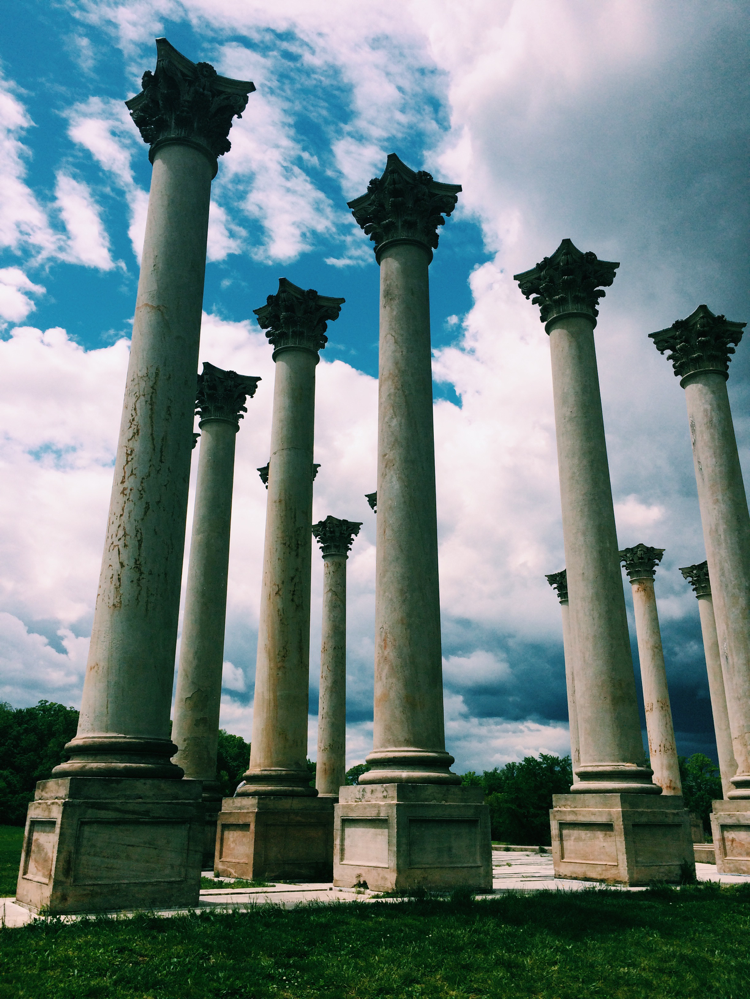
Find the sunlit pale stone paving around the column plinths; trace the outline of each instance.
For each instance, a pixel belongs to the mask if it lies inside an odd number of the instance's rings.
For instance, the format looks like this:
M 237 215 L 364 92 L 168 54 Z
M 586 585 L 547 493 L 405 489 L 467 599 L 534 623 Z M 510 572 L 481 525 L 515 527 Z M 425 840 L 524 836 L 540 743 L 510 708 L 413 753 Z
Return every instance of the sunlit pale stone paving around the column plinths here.
M 719 874 L 715 864 L 696 864 L 698 881 L 718 881 L 720 884 L 748 884 L 750 875 Z M 204 874 L 204 876 L 209 876 Z M 237 911 L 251 909 L 258 905 L 279 905 L 286 909 L 305 902 L 319 902 L 327 905 L 346 902 L 398 902 L 399 898 L 379 897 L 378 892 L 362 889 L 336 888 L 332 884 L 275 884 L 266 888 L 223 888 L 219 887 L 226 879 L 216 878 L 216 888 L 201 891 L 196 908 L 161 909 L 160 916 L 176 916 L 187 912 L 201 912 L 206 909 Z M 583 891 L 596 888 L 595 881 L 573 881 L 556 878 L 552 856 L 531 850 L 493 850 L 492 853 L 492 893 L 477 895 L 478 899 L 495 898 L 508 892 L 533 891 Z M 645 891 L 645 888 L 629 888 L 626 885 L 611 885 L 619 891 Z M 132 912 L 100 913 L 120 918 L 132 916 Z M 33 919 L 44 919 L 18 905 L 15 899 L 0 899 L 0 925 L 8 927 L 25 926 Z M 63 916 L 65 921 L 85 918 L 83 916 Z

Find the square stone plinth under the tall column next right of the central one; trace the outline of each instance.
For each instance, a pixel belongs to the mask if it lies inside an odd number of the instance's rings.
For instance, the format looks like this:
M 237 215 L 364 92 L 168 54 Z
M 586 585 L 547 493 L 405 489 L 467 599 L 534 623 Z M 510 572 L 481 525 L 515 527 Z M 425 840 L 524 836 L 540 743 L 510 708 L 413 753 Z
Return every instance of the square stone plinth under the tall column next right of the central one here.
M 647 885 L 695 875 L 690 815 L 679 795 L 556 794 L 556 878 Z

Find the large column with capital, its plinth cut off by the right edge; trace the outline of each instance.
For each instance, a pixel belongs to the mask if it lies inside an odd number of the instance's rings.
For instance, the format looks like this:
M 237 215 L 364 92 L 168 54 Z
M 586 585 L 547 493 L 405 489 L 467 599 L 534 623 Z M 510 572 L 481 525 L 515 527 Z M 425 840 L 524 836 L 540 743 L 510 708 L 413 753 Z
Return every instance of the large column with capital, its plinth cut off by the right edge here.
M 651 333 L 685 389 L 698 504 L 711 577 L 719 652 L 737 773 L 714 803 L 716 864 L 750 874 L 750 515 L 727 394 L 729 360 L 745 323 L 699 305 Z M 744 831 L 740 831 L 744 830 Z

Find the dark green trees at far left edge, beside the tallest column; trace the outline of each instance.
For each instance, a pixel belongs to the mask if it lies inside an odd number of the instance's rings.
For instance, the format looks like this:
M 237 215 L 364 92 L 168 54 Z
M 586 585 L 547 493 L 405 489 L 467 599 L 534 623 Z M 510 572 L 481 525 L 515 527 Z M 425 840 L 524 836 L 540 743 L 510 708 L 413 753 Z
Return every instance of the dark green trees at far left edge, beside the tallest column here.
M 63 763 L 63 746 L 78 728 L 78 712 L 40 701 L 33 708 L 0 703 L 0 825 L 22 826 L 37 781 Z

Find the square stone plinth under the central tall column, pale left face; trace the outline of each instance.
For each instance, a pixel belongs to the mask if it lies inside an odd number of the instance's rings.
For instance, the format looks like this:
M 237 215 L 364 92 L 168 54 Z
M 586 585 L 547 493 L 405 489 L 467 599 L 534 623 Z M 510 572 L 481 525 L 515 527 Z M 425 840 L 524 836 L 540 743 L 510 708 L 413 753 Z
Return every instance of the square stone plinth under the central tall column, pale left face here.
M 342 888 L 492 890 L 490 814 L 478 787 L 342 787 L 333 850 Z

